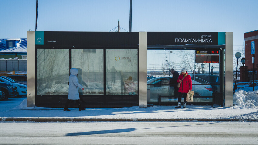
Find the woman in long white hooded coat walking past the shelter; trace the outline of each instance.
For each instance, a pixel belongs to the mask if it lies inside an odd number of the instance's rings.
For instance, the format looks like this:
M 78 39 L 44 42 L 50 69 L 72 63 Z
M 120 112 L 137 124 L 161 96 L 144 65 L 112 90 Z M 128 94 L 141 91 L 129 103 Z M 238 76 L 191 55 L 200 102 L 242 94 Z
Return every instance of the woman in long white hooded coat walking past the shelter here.
M 81 84 L 78 83 L 78 69 L 76 68 L 71 68 L 70 69 L 71 75 L 69 76 L 69 89 L 68 89 L 68 100 L 66 101 L 65 107 L 64 107 L 64 111 L 71 111 L 68 109 L 68 105 L 70 104 L 71 100 L 76 100 L 76 103 L 79 107 L 79 111 L 81 110 L 85 110 L 85 108 L 83 108 L 80 105 L 80 97 L 79 97 L 79 88 L 81 88 L 82 90 L 84 90 L 83 86 Z

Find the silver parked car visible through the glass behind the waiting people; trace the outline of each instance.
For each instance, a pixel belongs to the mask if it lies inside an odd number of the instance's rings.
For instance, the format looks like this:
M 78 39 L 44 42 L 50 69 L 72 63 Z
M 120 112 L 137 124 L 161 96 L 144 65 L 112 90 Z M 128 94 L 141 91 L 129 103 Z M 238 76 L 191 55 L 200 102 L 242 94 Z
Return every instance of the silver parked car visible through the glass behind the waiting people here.
M 158 99 L 159 95 L 174 96 L 174 87 L 170 87 L 168 85 L 169 78 L 172 78 L 172 76 L 157 77 L 147 81 L 147 84 L 152 84 L 152 85 L 147 85 L 147 89 L 151 90 L 151 99 L 156 100 Z M 197 77 L 191 77 L 191 79 L 192 79 L 192 84 L 209 84 L 207 81 Z M 194 96 L 207 96 L 206 99 L 209 99 L 207 102 L 211 101 L 211 96 L 212 96 L 211 85 L 193 85 L 192 90 L 194 91 Z

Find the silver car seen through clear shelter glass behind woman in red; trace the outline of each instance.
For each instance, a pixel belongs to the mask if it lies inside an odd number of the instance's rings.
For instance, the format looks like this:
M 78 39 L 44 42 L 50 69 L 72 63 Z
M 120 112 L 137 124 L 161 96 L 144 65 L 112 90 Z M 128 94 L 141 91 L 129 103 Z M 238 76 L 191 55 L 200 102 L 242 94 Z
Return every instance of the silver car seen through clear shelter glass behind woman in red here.
M 177 102 L 177 96 L 174 96 L 174 87 L 170 87 L 169 78 L 172 76 L 157 77 L 147 81 L 147 89 L 150 89 L 150 99 L 151 102 L 158 102 L 158 96 L 169 96 L 168 98 L 161 98 L 161 102 Z M 193 102 L 211 102 L 212 101 L 212 86 L 203 79 L 197 77 L 191 77 L 192 91 L 194 91 Z M 204 85 L 199 85 L 204 84 Z M 195 97 L 196 96 L 196 97 Z M 198 98 L 197 96 L 204 96 Z M 182 99 L 183 101 L 183 99 Z

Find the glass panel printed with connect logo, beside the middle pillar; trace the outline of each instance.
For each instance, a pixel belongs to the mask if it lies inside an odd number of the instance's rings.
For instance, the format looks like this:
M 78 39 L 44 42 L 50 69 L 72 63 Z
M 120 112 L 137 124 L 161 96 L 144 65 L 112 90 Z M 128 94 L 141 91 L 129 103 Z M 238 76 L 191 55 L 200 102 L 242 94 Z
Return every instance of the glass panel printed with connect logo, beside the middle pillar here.
M 106 94 L 138 94 L 138 50 L 106 50 Z

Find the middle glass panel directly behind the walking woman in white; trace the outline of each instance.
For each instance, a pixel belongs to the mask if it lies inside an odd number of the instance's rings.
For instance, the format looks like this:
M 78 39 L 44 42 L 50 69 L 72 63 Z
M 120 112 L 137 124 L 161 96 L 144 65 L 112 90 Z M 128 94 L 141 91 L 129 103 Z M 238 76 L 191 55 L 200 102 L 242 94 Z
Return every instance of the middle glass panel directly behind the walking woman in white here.
M 72 49 L 72 68 L 78 69 L 81 95 L 104 94 L 103 49 Z

